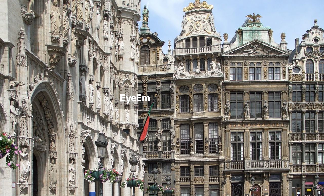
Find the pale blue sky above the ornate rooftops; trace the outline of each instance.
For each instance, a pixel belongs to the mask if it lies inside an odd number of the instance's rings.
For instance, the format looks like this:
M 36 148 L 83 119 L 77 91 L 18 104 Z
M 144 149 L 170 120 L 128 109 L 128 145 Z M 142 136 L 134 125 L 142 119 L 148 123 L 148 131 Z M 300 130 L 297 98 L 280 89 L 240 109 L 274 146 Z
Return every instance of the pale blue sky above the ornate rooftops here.
M 171 40 L 171 49 L 174 48 L 174 39 L 180 34 L 181 21 L 184 12 L 182 9 L 194 0 L 142 0 L 141 7 L 148 6 L 148 27 L 151 32 L 157 32 L 158 37 L 165 41 L 163 53 L 168 51 L 168 40 Z M 201 0 L 202 2 L 202 0 Z M 237 1 L 237 0 L 206 0 L 214 6 L 212 13 L 215 17 L 215 28 L 223 39 L 223 33 L 228 33 L 228 40 L 235 35 L 235 30 L 243 24 L 247 15 L 260 14 L 263 26 L 269 26 L 273 31 L 273 39 L 280 43 L 280 34 L 286 33 L 287 48 L 295 48 L 295 39 L 306 33 L 317 24 L 324 29 L 324 14 L 320 10 L 324 6 L 322 1 L 307 3 L 302 0 L 282 1 Z M 320 3 L 322 2 L 322 3 Z M 141 9 L 141 13 L 142 13 Z M 142 24 L 139 22 L 139 27 Z M 224 39 L 223 39 L 224 41 Z

